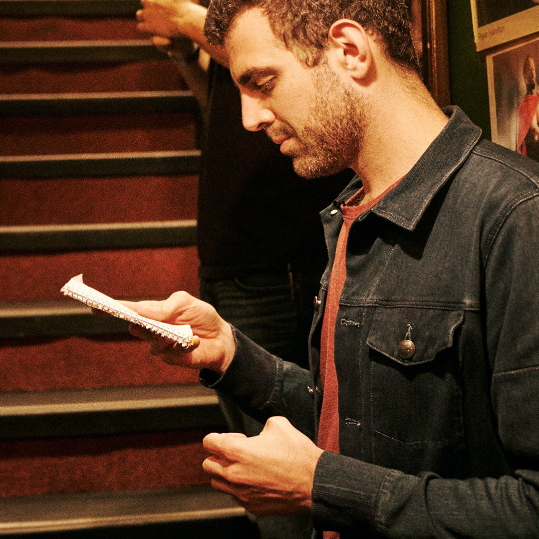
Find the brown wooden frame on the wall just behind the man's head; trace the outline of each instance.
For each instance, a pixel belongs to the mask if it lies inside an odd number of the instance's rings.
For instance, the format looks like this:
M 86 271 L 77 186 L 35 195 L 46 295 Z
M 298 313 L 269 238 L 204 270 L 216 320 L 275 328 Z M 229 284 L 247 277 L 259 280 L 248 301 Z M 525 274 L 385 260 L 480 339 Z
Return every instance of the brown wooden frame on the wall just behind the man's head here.
M 539 0 L 538 0 L 539 2 Z M 409 0 L 421 75 L 440 107 L 450 105 L 446 0 Z

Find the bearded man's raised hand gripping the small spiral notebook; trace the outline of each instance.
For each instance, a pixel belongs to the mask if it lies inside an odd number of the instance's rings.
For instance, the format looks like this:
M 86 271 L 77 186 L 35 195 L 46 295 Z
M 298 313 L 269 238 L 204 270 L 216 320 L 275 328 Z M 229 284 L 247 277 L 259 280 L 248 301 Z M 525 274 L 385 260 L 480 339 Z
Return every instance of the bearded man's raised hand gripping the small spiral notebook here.
M 181 347 L 172 346 L 170 339 L 136 324 L 130 324 L 130 333 L 146 341 L 150 345 L 150 353 L 159 355 L 165 363 L 193 369 L 211 369 L 222 374 L 232 361 L 236 348 L 232 328 L 208 303 L 186 292 L 175 292 L 164 301 L 121 303 L 152 320 L 191 326 L 194 335 L 193 348 L 185 352 Z

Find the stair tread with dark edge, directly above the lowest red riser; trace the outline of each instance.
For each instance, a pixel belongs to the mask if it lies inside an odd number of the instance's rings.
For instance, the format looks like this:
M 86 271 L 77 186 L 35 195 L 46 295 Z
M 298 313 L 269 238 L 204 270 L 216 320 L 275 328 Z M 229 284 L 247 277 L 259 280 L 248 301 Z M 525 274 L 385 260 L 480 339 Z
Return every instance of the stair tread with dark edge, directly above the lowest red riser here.
M 34 450 L 38 439 L 51 444 L 53 439 L 97 436 L 101 450 L 105 451 L 107 437 L 223 430 L 224 425 L 216 393 L 194 380 L 163 385 L 0 393 L 0 440 L 12 440 L 17 445 L 31 439 Z M 63 441 L 58 447 L 63 447 Z M 4 451 L 10 451 L 9 446 Z

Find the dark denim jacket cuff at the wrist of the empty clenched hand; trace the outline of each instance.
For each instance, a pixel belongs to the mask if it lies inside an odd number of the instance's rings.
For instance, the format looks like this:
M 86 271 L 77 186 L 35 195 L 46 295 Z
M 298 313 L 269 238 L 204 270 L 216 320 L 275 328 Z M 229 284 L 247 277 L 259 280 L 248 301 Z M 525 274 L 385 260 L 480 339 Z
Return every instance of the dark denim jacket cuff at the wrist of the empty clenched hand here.
M 379 493 L 388 469 L 324 451 L 313 483 L 313 524 L 318 530 L 375 528 Z

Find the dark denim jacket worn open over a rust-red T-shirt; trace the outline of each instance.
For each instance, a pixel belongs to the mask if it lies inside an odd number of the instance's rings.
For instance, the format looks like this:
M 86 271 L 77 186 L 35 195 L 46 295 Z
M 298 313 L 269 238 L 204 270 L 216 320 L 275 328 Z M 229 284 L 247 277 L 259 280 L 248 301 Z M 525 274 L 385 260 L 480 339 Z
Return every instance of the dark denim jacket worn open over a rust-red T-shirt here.
M 341 454 L 322 454 L 312 510 L 316 529 L 342 539 L 539 537 L 539 165 L 445 112 L 443 132 L 349 233 L 335 328 Z M 227 372 L 202 373 L 260 420 L 284 415 L 314 440 L 340 206 L 360 186 L 321 213 L 329 264 L 310 372 L 235 331 Z

